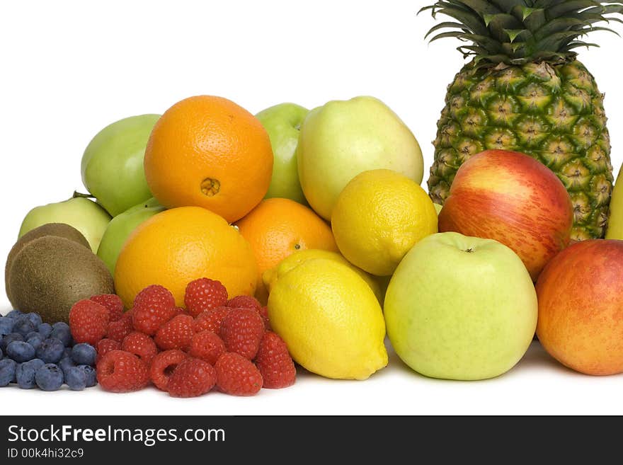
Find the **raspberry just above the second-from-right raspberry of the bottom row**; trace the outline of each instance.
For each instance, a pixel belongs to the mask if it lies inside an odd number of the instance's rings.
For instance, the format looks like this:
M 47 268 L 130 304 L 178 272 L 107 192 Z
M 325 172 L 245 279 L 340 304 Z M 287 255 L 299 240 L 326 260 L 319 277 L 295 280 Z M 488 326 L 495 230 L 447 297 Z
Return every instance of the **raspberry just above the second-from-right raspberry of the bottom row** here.
M 221 322 L 220 335 L 228 352 L 253 360 L 264 335 L 264 322 L 256 310 L 232 309 Z

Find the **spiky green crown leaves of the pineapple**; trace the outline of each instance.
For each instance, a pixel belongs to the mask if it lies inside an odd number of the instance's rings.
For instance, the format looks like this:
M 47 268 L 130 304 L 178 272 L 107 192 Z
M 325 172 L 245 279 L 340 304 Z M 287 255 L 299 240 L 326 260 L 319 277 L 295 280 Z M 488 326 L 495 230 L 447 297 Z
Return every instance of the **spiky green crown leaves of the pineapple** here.
M 430 42 L 458 38 L 471 42 L 457 48 L 464 57 L 474 56 L 476 67 L 528 62 L 561 62 L 576 57 L 577 47 L 599 47 L 581 40 L 596 30 L 616 33 L 595 25 L 623 23 L 623 3 L 593 0 L 440 0 L 418 11 L 430 11 L 454 21 L 433 26 Z M 618 35 L 618 34 L 617 34 Z

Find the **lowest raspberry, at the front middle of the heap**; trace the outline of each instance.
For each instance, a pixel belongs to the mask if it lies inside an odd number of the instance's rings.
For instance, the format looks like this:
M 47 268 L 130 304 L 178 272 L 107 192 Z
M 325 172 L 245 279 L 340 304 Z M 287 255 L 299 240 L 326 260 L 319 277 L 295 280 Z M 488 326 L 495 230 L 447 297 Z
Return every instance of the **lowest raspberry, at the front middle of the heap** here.
M 178 364 L 168 379 L 168 394 L 173 397 L 197 397 L 207 394 L 217 382 L 214 367 L 198 358 L 187 358 Z

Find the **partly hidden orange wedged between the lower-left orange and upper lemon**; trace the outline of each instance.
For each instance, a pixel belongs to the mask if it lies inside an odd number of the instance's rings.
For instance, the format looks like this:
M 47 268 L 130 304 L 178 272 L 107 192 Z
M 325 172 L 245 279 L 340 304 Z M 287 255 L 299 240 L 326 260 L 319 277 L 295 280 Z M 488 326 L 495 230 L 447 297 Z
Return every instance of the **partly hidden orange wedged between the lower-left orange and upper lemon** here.
M 240 234 L 251 244 L 258 264 L 256 297 L 265 302 L 268 290 L 262 274 L 299 250 L 319 248 L 337 252 L 331 226 L 314 210 L 290 199 L 263 200 L 236 223 Z

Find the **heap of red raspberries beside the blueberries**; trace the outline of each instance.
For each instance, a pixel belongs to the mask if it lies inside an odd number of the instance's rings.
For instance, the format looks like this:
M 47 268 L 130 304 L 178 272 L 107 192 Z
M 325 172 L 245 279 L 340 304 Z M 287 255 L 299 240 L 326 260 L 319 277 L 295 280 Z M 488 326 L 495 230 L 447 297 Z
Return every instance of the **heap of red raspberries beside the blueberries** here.
M 106 391 L 138 391 L 153 383 L 173 397 L 195 397 L 213 388 L 253 396 L 296 380 L 285 342 L 270 331 L 265 306 L 248 296 L 228 300 L 219 282 L 190 282 L 185 309 L 168 289 L 143 289 L 123 312 L 115 294 L 76 302 L 69 328 L 76 343 L 96 347 L 96 372 Z

